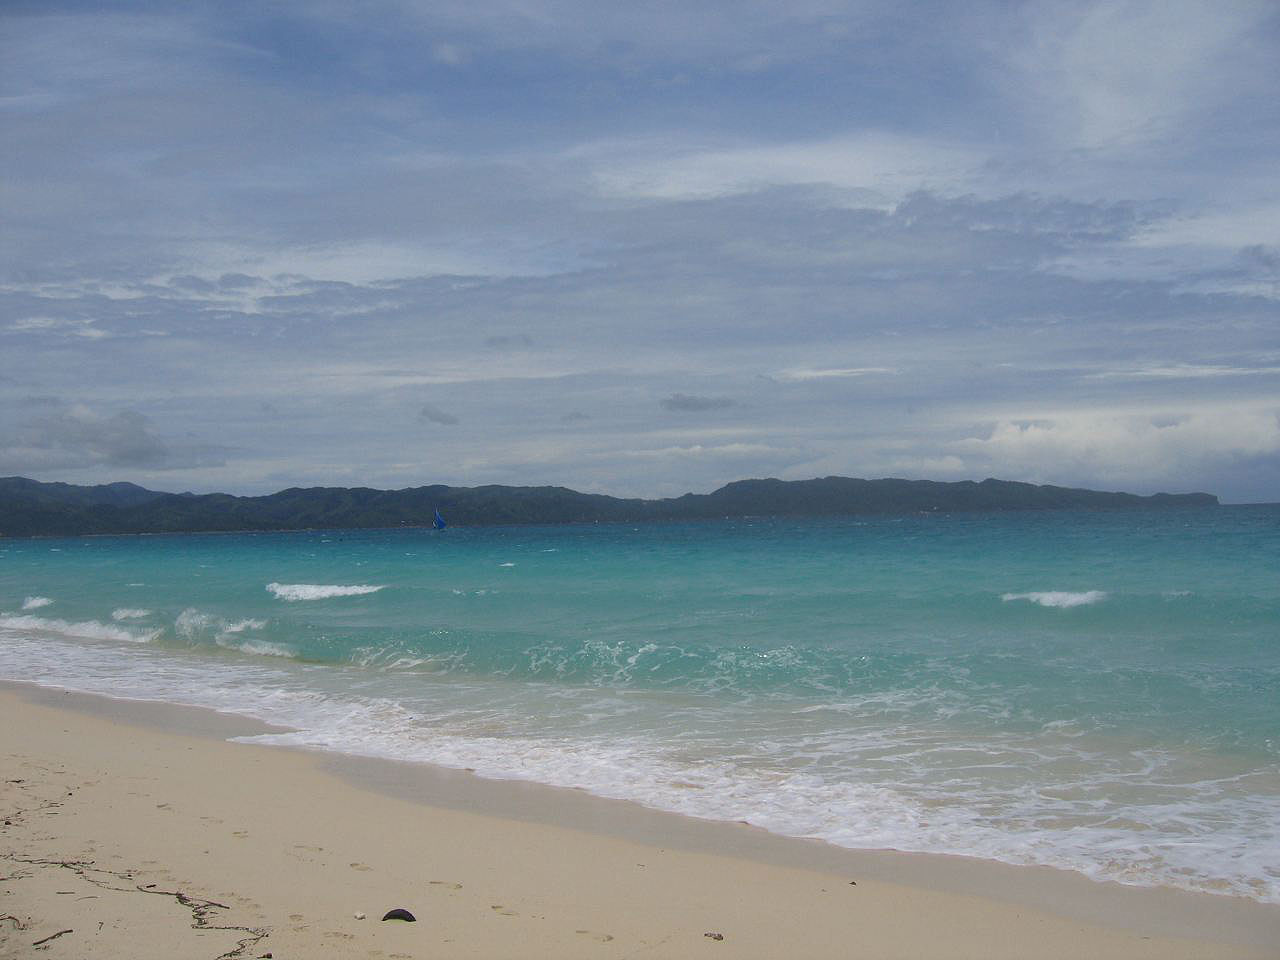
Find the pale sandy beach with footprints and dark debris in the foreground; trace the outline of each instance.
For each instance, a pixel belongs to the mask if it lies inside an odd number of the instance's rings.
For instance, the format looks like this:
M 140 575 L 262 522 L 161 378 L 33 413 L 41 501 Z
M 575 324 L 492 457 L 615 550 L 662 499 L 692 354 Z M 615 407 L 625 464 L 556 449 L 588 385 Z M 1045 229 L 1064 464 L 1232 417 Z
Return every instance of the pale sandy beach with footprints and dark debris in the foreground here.
M 0 687 L 4 957 L 1270 957 L 1280 909 L 858 852 Z M 394 908 L 416 923 L 380 918 Z

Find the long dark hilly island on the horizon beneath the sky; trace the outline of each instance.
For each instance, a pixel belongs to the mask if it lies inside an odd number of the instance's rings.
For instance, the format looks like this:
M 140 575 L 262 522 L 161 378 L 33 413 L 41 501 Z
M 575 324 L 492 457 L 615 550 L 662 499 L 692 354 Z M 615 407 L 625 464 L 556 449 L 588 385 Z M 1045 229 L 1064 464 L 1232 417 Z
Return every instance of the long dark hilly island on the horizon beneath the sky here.
M 159 493 L 0 477 L 0 536 L 179 534 L 430 526 L 686 521 L 722 517 L 835 517 L 919 512 L 1167 509 L 1213 507 L 1207 493 L 1139 497 L 1010 480 L 739 480 L 714 493 L 620 499 L 566 486 L 291 488 L 265 497 Z

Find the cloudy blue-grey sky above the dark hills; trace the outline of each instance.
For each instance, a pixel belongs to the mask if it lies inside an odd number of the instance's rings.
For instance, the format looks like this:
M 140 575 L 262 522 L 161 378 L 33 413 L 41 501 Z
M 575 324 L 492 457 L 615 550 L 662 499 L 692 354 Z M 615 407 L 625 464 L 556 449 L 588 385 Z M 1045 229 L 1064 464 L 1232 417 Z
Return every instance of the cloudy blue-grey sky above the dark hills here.
M 1280 500 L 1280 4 L 0 6 L 0 475 Z

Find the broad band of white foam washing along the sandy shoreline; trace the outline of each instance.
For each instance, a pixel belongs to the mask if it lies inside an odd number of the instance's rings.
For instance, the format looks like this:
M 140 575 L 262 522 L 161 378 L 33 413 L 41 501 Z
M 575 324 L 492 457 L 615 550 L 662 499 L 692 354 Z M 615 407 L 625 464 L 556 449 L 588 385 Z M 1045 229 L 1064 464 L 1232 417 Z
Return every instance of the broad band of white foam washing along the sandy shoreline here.
M 424 695 L 422 685 L 429 681 L 421 675 L 406 684 L 387 673 L 380 695 L 356 696 L 340 669 L 303 673 L 287 660 L 266 660 L 289 657 L 287 648 L 275 644 L 238 648 L 264 654 L 261 663 L 186 662 L 175 659 L 173 652 L 138 648 L 128 660 L 131 667 L 122 671 L 115 650 L 69 640 L 52 643 L 51 648 L 50 641 L 19 636 L 0 644 L 0 675 L 110 696 L 188 703 L 293 731 L 244 737 L 248 741 L 466 767 L 481 776 L 580 787 L 850 847 L 1051 864 L 1098 879 L 1280 902 L 1280 879 L 1267 858 L 1280 841 L 1275 792 L 1268 788 L 1274 777 L 1260 782 L 1252 795 L 1236 799 L 1224 797 L 1221 783 L 1212 780 L 1203 780 L 1204 790 L 1197 792 L 1197 782 L 1208 771 L 1190 780 L 1172 777 L 1180 786 L 1169 791 L 1160 787 L 1160 781 L 1170 780 L 1164 776 L 1170 769 L 1161 769 L 1161 764 L 1176 758 L 1144 755 L 1107 769 L 1088 762 L 1091 751 L 1106 744 L 1076 746 L 1073 741 L 1062 748 L 1039 739 L 966 740 L 955 733 L 938 736 L 933 730 L 913 732 L 910 726 L 883 726 L 879 707 L 873 710 L 877 723 L 870 728 L 845 721 L 838 731 L 818 724 L 817 739 L 783 736 L 774 751 L 753 753 L 754 759 L 744 763 L 723 749 L 733 741 L 719 746 L 708 742 L 709 751 L 672 744 L 667 736 L 671 718 L 653 714 L 666 709 L 660 698 L 648 705 L 627 698 L 641 713 L 627 730 L 612 733 L 577 730 L 584 716 L 614 713 L 618 700 L 607 691 L 562 691 L 568 699 L 559 708 L 559 698 L 538 700 L 539 710 L 550 712 L 545 721 L 554 722 L 554 714 L 573 724 L 576 732 L 570 733 L 563 727 L 544 727 L 541 718 L 531 722 L 524 716 L 530 705 L 524 699 L 527 691 L 515 694 L 518 701 L 511 700 L 517 687 L 502 682 L 451 680 Z M 856 708 L 855 701 L 849 705 Z M 873 760 L 851 777 L 847 771 L 823 769 L 823 764 L 787 760 L 800 753 L 818 759 L 858 754 L 900 758 L 905 765 L 895 762 L 892 772 Z M 1073 777 L 1083 763 L 1091 776 L 1064 786 L 1047 769 L 1051 790 L 1010 794 L 975 773 L 992 758 L 1023 767 L 1066 764 Z M 943 776 L 948 771 L 963 776 Z M 886 774 L 899 782 L 887 782 Z M 1097 792 L 1108 783 L 1153 785 L 1125 812 L 1151 828 L 1135 835 L 1112 822 L 1107 810 L 1096 809 Z M 977 815 L 975 810 L 984 813 Z M 1188 842 L 1189 836 L 1194 842 Z

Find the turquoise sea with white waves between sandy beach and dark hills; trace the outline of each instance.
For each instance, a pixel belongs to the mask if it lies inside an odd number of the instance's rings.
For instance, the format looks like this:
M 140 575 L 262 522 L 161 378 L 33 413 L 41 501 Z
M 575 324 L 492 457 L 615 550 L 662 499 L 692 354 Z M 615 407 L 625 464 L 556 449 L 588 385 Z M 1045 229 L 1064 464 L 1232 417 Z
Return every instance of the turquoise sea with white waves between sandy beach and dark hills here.
M 1280 902 L 1280 507 L 0 540 L 0 677 Z

